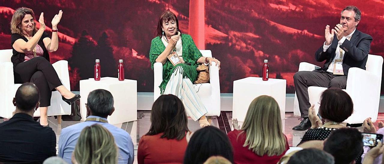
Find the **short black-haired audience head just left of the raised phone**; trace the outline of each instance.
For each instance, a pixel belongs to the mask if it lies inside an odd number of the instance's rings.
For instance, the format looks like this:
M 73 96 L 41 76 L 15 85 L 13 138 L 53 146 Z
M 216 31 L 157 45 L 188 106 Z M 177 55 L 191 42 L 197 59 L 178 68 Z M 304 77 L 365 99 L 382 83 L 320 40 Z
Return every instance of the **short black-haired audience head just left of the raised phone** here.
M 335 164 L 354 163 L 362 147 L 362 135 L 356 128 L 334 130 L 324 141 L 324 151 L 334 157 Z

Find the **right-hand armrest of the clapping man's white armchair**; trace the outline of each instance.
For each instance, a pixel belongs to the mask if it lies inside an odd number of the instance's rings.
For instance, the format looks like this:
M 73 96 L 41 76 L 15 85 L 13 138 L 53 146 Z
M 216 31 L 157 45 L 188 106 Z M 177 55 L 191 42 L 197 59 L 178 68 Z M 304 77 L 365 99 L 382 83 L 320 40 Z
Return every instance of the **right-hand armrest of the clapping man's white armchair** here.
M 355 109 L 346 123 L 362 123 L 363 118 L 377 119 L 380 101 L 380 82 L 377 75 L 361 68 L 352 67 L 348 70 L 346 92 L 352 98 Z M 369 103 L 368 103 L 369 102 Z

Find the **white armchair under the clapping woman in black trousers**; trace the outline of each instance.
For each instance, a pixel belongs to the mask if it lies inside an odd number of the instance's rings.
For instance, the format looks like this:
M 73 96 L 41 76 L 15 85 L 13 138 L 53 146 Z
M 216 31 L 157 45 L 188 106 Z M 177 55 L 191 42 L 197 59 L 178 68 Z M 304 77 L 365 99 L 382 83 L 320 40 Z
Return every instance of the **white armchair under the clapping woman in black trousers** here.
M 15 84 L 13 79 L 13 64 L 11 62 L 12 49 L 0 50 L 0 116 L 11 118 L 15 110 L 12 100 L 16 90 L 22 84 Z M 68 61 L 61 60 L 52 64 L 57 72 L 61 83 L 70 90 L 70 77 L 68 72 Z M 61 99 L 58 91 L 52 92 L 51 106 L 48 107 L 48 116 L 70 115 L 71 106 Z M 40 110 L 36 110 L 33 116 L 40 116 Z

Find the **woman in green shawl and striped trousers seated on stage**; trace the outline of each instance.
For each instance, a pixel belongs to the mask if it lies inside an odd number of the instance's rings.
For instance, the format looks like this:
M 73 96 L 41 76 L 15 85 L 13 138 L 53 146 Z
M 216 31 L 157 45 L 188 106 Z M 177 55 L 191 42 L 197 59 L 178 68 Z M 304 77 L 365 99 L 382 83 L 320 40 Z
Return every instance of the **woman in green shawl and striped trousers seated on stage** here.
M 187 114 L 194 121 L 199 120 L 201 127 L 209 126 L 205 117 L 207 109 L 194 90 L 192 82 L 197 79 L 197 66 L 215 62 L 220 69 L 220 61 L 202 56 L 192 37 L 180 33 L 179 21 L 171 11 L 165 11 L 160 16 L 155 36 L 151 42 L 149 60 L 152 69 L 155 62 L 163 64 L 163 81 L 159 86 L 161 94 L 176 95 L 182 100 Z M 179 56 L 181 63 L 174 66 L 167 58 L 170 54 Z

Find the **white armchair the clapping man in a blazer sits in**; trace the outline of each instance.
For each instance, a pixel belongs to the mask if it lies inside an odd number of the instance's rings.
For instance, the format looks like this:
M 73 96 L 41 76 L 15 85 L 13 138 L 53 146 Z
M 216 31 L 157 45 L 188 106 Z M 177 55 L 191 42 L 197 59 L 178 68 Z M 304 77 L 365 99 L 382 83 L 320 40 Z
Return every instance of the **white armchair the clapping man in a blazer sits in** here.
M 368 117 L 372 118 L 372 122 L 376 121 L 379 112 L 382 65 L 383 58 L 381 56 L 368 54 L 366 70 L 357 67 L 348 70 L 347 86 L 343 90 L 352 98 L 354 109 L 353 114 L 344 121 L 345 123 L 362 123 Z M 313 71 L 318 68 L 313 64 L 301 62 L 299 71 Z M 319 110 L 318 102 L 321 92 L 326 89 L 325 87 L 308 87 L 310 103 L 315 104 L 316 112 Z M 293 114 L 300 116 L 296 94 Z

